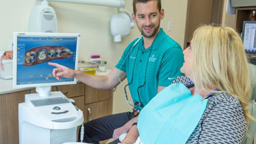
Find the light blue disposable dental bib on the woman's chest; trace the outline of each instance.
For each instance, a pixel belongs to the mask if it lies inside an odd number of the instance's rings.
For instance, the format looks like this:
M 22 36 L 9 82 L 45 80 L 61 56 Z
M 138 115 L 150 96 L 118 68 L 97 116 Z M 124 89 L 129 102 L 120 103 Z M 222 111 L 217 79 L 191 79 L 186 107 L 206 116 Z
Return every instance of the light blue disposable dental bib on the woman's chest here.
M 186 143 L 206 109 L 208 99 L 191 95 L 181 83 L 160 91 L 138 117 L 142 143 Z

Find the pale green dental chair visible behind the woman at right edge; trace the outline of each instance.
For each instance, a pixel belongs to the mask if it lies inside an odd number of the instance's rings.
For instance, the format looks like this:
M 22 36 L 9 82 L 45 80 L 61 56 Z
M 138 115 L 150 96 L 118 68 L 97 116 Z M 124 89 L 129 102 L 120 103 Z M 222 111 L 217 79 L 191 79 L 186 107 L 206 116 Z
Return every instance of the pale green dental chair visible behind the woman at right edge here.
M 249 70 L 250 70 L 250 75 L 251 75 L 251 86 L 252 86 L 252 89 L 253 89 L 251 102 L 249 102 L 250 113 L 256 119 L 256 104 L 255 104 L 255 99 L 256 99 L 256 66 L 251 64 L 251 63 L 249 63 L 248 65 L 249 65 Z M 253 139 L 255 137 L 255 131 L 256 131 L 256 121 L 251 121 L 251 124 L 249 126 L 250 136 L 244 138 L 243 144 L 252 144 L 253 143 Z

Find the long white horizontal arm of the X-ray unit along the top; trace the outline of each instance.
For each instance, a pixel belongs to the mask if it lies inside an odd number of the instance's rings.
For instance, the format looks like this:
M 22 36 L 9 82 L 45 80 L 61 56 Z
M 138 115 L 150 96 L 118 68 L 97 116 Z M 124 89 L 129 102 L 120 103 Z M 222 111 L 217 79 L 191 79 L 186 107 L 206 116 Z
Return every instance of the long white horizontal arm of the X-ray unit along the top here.
M 55 2 L 65 2 L 65 3 L 81 3 L 88 5 L 101 5 L 108 7 L 116 7 L 116 8 L 125 8 L 124 0 L 48 0 Z

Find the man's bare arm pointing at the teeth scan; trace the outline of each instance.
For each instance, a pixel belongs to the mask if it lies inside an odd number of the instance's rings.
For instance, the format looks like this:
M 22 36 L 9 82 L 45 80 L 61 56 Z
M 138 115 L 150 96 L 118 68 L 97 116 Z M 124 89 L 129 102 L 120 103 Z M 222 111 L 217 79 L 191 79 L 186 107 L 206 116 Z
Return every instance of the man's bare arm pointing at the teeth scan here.
M 77 80 L 96 89 L 113 89 L 120 83 L 120 81 L 123 81 L 126 78 L 126 72 L 118 70 L 117 68 L 114 68 L 110 74 L 107 74 L 106 76 L 94 76 L 77 70 L 71 70 L 70 68 L 66 68 L 57 63 L 49 63 L 49 65 L 56 67 L 53 69 L 53 76 L 57 78 L 57 80 L 61 80 L 61 77 L 77 78 Z M 118 80 L 118 77 L 120 81 Z

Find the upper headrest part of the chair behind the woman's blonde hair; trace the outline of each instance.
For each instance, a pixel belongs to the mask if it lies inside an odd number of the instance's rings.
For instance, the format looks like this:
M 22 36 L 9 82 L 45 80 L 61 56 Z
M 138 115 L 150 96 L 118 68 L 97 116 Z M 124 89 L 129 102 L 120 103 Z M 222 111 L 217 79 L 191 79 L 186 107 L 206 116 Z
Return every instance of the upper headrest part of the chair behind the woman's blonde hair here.
M 248 64 L 250 70 L 250 77 L 251 77 L 251 87 L 252 87 L 252 98 L 251 100 L 256 99 L 256 66 L 249 63 Z

